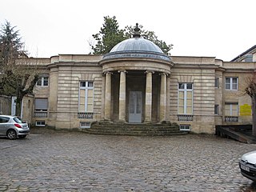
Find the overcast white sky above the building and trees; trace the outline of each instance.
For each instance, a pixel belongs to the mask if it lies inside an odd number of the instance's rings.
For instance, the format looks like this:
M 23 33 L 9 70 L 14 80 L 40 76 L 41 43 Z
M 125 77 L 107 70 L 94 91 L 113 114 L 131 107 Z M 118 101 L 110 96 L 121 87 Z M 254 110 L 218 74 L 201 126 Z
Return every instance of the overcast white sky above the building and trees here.
M 136 22 L 174 44 L 174 56 L 230 61 L 256 44 L 255 0 L 1 0 L 0 22 L 17 26 L 32 57 L 88 54 L 104 16 Z

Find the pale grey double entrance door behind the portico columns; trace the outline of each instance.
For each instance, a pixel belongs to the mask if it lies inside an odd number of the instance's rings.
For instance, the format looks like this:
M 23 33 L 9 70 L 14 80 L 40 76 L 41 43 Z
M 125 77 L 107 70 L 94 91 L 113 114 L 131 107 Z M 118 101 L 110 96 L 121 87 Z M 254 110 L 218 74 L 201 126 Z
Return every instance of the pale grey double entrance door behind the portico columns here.
M 129 122 L 142 122 L 142 91 L 130 91 Z

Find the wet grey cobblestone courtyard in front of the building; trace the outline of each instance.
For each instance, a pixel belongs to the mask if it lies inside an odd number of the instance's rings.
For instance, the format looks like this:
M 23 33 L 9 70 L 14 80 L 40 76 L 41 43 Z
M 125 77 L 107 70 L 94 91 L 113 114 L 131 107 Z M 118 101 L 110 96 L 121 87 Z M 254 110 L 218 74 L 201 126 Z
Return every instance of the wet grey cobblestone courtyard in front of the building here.
M 256 145 L 209 135 L 32 130 L 0 138 L 0 191 L 256 191 L 238 167 L 250 150 Z

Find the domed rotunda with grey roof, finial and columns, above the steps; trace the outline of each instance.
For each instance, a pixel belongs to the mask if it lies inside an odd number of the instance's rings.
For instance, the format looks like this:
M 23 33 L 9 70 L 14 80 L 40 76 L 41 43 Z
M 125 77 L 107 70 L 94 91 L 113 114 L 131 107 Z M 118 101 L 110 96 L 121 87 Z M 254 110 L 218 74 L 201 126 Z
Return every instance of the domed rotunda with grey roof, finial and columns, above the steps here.
M 138 23 L 133 38 L 119 42 L 99 65 L 105 78 L 105 119 L 113 122 L 165 122 L 167 78 L 173 66 L 166 54 L 145 38 Z

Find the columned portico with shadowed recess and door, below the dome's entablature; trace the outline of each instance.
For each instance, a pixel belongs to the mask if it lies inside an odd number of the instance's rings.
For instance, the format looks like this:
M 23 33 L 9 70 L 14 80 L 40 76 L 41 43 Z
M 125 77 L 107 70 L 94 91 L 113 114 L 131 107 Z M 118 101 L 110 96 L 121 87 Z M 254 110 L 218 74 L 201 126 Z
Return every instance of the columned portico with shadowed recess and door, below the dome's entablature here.
M 106 73 L 105 78 L 105 120 L 166 121 L 167 74 L 152 70 L 117 70 Z

